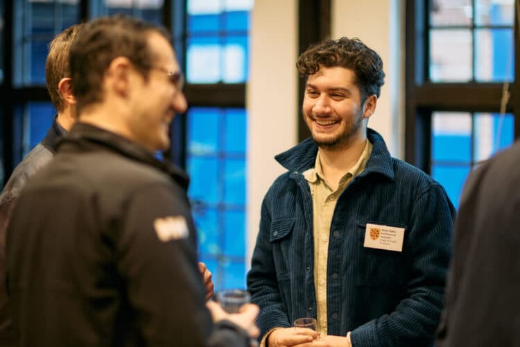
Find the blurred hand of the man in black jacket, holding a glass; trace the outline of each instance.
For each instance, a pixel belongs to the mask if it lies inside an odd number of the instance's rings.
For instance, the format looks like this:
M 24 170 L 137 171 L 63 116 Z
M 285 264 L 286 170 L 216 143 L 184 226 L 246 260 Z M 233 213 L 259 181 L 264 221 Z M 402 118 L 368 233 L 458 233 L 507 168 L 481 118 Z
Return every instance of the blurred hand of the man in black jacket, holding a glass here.
M 227 313 L 220 305 L 212 300 L 206 302 L 206 307 L 211 312 L 211 317 L 214 322 L 223 319 L 239 325 L 243 330 L 248 332 L 252 339 L 257 339 L 260 335 L 260 330 L 257 327 L 256 321 L 260 309 L 257 305 L 248 303 L 240 308 L 239 313 Z

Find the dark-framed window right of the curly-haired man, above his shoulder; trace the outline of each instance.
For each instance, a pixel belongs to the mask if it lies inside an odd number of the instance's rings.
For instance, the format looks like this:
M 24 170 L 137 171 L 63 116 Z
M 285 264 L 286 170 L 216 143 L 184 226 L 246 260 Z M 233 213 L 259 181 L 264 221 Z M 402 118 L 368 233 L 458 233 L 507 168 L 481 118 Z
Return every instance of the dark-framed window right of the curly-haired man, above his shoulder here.
M 407 2 L 406 160 L 456 206 L 471 169 L 519 134 L 515 22 L 514 0 Z

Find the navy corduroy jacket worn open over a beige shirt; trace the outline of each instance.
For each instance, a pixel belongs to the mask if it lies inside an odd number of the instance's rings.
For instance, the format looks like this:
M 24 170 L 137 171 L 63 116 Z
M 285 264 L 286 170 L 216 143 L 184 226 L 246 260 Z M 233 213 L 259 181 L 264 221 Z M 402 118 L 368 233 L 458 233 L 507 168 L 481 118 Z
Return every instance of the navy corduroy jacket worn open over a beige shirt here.
M 431 346 L 440 319 L 455 209 L 433 178 L 392 158 L 367 129 L 372 154 L 334 210 L 327 266 L 329 335 L 352 331 L 361 346 Z M 302 172 L 318 146 L 306 139 L 277 155 L 288 169 L 272 184 L 262 210 L 248 273 L 261 307 L 261 335 L 315 316 L 313 203 Z M 367 223 L 405 229 L 401 252 L 365 248 Z

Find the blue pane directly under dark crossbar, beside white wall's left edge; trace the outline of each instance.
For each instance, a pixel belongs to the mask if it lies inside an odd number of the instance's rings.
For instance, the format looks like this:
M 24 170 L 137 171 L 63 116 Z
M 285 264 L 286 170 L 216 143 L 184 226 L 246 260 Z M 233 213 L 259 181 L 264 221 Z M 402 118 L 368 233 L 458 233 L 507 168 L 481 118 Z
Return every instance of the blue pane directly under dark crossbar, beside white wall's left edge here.
M 228 153 L 244 153 L 247 129 L 247 113 L 243 108 L 228 108 L 225 113 L 224 149 Z

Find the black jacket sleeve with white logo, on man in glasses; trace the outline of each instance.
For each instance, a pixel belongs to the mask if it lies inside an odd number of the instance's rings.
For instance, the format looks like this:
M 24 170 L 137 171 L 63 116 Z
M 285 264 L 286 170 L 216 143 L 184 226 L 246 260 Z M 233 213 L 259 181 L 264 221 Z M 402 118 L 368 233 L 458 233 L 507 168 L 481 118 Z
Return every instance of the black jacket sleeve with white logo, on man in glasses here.
M 129 200 L 114 239 L 118 272 L 144 344 L 248 346 L 247 335 L 236 325 L 211 321 L 184 192 L 154 185 Z

